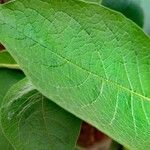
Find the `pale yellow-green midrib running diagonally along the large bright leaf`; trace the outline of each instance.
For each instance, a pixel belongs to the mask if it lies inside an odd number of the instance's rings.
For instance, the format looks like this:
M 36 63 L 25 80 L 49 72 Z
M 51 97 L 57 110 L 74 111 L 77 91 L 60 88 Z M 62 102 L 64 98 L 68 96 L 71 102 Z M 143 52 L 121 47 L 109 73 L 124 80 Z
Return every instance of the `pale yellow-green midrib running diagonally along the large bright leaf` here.
M 44 16 L 43 16 L 43 17 L 44 17 Z M 44 17 L 44 18 L 45 18 L 45 17 Z M 46 19 L 47 19 L 47 18 L 46 18 Z M 51 51 L 52 53 L 54 53 L 55 55 L 57 55 L 57 56 L 60 57 L 61 59 L 64 59 L 66 62 L 68 62 L 68 63 L 70 63 L 70 64 L 72 64 L 72 65 L 74 65 L 74 66 L 80 68 L 81 70 L 86 71 L 86 72 L 88 72 L 89 74 L 92 74 L 93 76 L 96 76 L 96 77 L 98 77 L 98 78 L 101 78 L 103 81 L 105 81 L 105 82 L 107 82 L 107 83 L 110 83 L 110 84 L 112 84 L 113 86 L 116 86 L 116 87 L 119 88 L 119 89 L 122 89 L 122 90 L 125 90 L 125 91 L 129 92 L 131 95 L 133 94 L 133 95 L 136 95 L 136 96 L 138 96 L 138 97 L 140 97 L 140 98 L 142 98 L 142 99 L 145 99 L 145 100 L 147 100 L 147 101 L 150 101 L 150 98 L 149 98 L 149 97 L 144 96 L 144 95 L 142 95 L 142 94 L 140 94 L 140 93 L 137 93 L 137 92 L 135 92 L 135 91 L 133 91 L 133 90 L 131 90 L 131 89 L 128 89 L 127 87 L 124 87 L 123 85 L 121 85 L 121 84 L 119 84 L 119 83 L 117 83 L 117 82 L 114 82 L 114 81 L 112 81 L 112 80 L 108 80 L 108 79 L 106 79 L 106 78 L 104 78 L 104 77 L 102 77 L 102 76 L 99 76 L 99 75 L 95 74 L 94 72 L 89 71 L 89 70 L 86 69 L 86 68 L 81 67 L 80 65 L 77 65 L 76 63 L 74 63 L 74 62 L 70 61 L 69 59 L 63 57 L 61 54 L 52 51 L 52 50 L 49 49 L 47 46 L 45 46 L 44 44 L 38 42 L 37 40 L 33 39 L 32 37 L 29 37 L 29 36 L 25 35 L 24 33 L 22 33 L 21 31 L 19 31 L 19 30 L 18 30 L 17 28 L 15 28 L 14 26 L 11 26 L 11 25 L 8 24 L 8 23 L 3 23 L 3 25 L 5 25 L 5 24 L 8 25 L 8 26 L 11 27 L 11 28 L 14 28 L 14 29 L 17 30 L 19 33 L 23 34 L 26 38 L 32 40 L 32 41 L 35 42 L 36 44 L 39 44 L 41 47 L 43 47 L 43 48 L 45 48 L 45 49 L 48 49 L 49 51 Z M 8 51 L 9 51 L 9 49 L 8 49 Z M 11 51 L 10 51 L 10 52 L 11 52 Z M 23 67 L 23 68 L 24 68 L 24 67 Z

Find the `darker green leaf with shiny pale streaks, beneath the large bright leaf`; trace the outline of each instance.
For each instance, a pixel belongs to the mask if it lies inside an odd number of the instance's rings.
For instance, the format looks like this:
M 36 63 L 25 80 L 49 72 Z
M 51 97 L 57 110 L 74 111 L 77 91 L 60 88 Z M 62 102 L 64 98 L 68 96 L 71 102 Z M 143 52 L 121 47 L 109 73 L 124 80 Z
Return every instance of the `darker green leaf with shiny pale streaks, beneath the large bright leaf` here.
M 42 96 L 27 79 L 4 98 L 1 123 L 16 150 L 71 150 L 80 120 Z

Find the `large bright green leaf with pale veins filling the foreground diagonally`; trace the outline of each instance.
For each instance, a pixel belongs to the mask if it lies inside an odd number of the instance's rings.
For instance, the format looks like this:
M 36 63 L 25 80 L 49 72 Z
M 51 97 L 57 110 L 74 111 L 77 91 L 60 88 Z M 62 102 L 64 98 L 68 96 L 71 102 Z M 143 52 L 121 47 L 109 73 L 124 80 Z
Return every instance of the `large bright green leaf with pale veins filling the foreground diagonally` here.
M 0 6 L 0 42 L 36 88 L 132 150 L 150 149 L 150 40 L 77 0 Z

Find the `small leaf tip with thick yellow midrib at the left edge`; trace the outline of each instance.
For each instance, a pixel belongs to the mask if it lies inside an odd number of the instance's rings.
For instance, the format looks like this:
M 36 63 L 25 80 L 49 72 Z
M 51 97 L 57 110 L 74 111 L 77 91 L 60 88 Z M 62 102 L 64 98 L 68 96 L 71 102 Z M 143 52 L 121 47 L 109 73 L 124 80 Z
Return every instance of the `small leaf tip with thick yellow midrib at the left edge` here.
M 6 51 L 0 51 L 0 68 L 19 69 L 19 65 Z

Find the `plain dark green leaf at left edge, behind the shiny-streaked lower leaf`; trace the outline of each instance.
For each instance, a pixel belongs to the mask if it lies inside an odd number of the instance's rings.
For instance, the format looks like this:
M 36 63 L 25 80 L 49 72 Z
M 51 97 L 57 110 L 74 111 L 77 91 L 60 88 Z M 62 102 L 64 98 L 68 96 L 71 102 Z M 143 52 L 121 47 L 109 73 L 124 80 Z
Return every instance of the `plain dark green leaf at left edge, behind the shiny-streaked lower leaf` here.
M 21 71 L 0 69 L 0 106 L 8 89 L 24 77 Z M 0 149 L 12 150 L 13 148 L 4 137 L 0 128 Z

